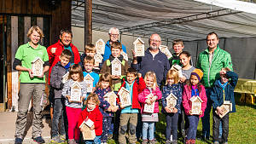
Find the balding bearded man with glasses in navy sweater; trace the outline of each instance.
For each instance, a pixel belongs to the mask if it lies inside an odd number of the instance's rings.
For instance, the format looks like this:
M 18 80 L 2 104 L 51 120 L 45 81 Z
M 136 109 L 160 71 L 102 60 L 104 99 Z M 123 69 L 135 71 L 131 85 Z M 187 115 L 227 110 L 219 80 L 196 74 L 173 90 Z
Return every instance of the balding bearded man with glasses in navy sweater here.
M 166 55 L 159 49 L 161 37 L 157 33 L 150 36 L 148 43 L 149 48 L 145 51 L 143 57 L 135 56 L 135 52 L 133 51 L 131 67 L 142 73 L 143 77 L 146 72 L 153 71 L 156 75 L 157 84 L 160 86 L 161 82 L 166 78 L 170 64 Z

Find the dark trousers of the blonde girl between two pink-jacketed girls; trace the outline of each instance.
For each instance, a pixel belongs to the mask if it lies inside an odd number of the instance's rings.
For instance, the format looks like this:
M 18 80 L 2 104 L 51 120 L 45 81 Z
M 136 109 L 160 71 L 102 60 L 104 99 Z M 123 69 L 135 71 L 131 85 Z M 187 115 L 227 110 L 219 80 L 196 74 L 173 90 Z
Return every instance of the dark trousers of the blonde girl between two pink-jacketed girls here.
M 177 118 L 178 113 L 166 113 L 166 140 L 177 140 Z

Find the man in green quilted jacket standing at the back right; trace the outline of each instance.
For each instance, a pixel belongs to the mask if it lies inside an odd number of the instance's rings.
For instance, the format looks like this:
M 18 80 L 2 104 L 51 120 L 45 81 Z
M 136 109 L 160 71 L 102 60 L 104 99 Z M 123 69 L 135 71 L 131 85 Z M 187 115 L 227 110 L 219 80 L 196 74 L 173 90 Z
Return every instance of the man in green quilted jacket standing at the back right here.
M 206 87 L 207 100 L 210 99 L 212 86 L 214 81 L 219 78 L 218 72 L 223 67 L 229 67 L 232 70 L 231 56 L 228 52 L 218 47 L 218 35 L 210 32 L 207 35 L 208 48 L 201 52 L 197 60 L 197 68 L 203 72 L 202 84 Z M 212 101 L 207 101 L 207 109 L 205 110 L 202 120 L 202 138 L 209 139 L 210 136 L 210 112 L 212 109 Z

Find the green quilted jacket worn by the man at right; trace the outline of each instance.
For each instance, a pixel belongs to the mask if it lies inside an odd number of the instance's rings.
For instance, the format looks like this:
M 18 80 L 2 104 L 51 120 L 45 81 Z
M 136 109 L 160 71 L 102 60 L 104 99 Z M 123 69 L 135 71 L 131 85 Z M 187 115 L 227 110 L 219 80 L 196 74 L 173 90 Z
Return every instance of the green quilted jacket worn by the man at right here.
M 219 78 L 221 68 L 229 67 L 231 71 L 233 71 L 230 54 L 223 49 L 219 49 L 219 47 L 213 52 L 211 66 L 209 64 L 209 50 L 206 49 L 200 53 L 196 67 L 204 72 L 201 83 L 204 84 L 206 88 L 213 86 L 215 80 Z

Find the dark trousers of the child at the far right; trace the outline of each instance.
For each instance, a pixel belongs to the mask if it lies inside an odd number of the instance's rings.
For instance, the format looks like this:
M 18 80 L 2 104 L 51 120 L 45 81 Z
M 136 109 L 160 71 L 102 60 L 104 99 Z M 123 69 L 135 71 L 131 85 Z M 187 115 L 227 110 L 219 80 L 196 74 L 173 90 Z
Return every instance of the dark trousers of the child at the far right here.
M 223 118 L 219 118 L 218 115 L 215 112 L 212 112 L 212 135 L 213 135 L 213 141 L 218 141 L 218 135 L 219 135 L 219 123 L 222 123 L 222 141 L 226 142 L 228 141 L 229 136 L 229 113 L 226 114 Z

